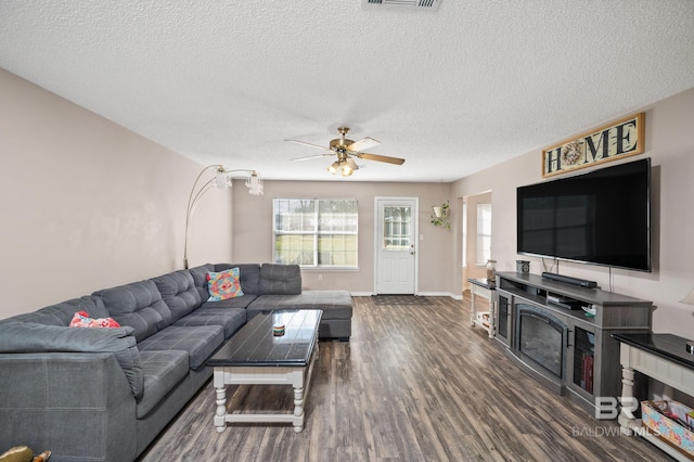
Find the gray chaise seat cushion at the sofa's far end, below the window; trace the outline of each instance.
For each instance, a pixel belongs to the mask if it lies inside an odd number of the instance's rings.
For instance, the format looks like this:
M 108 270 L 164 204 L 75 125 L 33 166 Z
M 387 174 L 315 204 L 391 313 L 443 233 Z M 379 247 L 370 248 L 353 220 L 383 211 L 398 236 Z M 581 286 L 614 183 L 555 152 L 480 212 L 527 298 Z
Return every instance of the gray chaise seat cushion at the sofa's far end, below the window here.
M 321 320 L 351 319 L 352 300 L 347 291 L 304 291 L 298 295 L 261 295 L 247 308 L 248 319 L 260 311 L 320 309 Z

